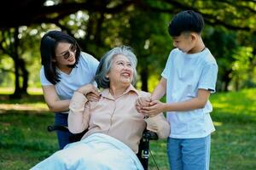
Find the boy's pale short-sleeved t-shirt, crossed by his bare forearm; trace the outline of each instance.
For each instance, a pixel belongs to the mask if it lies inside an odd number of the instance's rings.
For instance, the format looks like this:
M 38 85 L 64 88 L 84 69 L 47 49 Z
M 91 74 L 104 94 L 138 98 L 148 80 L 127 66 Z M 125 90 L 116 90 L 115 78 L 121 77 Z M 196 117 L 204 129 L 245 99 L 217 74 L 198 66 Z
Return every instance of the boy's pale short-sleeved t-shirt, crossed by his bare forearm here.
M 218 65 L 208 48 L 197 54 L 186 54 L 175 48 L 169 54 L 161 76 L 166 78 L 166 102 L 176 103 L 197 96 L 199 88 L 215 92 Z M 193 111 L 168 111 L 171 124 L 170 137 L 176 139 L 203 138 L 215 131 L 207 101 L 202 109 Z

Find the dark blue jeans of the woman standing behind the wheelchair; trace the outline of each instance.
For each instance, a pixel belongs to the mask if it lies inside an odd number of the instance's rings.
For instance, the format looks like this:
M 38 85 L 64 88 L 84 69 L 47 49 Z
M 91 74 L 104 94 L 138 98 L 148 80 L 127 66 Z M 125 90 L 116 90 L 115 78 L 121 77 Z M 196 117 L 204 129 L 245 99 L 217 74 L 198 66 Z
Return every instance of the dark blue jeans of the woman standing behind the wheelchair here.
M 67 127 L 67 116 L 68 114 L 63 114 L 63 113 L 55 113 L 55 125 L 62 125 Z M 71 143 L 71 141 L 69 140 L 69 136 L 72 133 L 68 132 L 64 132 L 61 130 L 57 130 L 57 136 L 58 136 L 58 142 L 59 142 L 59 147 L 60 150 L 62 150 L 66 144 Z

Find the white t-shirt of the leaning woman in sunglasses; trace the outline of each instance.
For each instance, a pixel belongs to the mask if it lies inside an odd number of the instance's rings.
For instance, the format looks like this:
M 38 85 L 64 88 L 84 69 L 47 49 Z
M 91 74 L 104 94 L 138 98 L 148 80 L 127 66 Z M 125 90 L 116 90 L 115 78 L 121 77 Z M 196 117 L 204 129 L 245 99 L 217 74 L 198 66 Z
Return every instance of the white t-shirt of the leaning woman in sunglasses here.
M 55 89 L 60 99 L 71 99 L 73 92 L 79 87 L 88 83 L 96 83 L 94 82 L 94 78 L 99 61 L 84 52 L 81 52 L 80 55 L 79 63 L 73 68 L 70 74 L 57 69 L 61 81 L 55 84 Z M 44 75 L 44 66 L 40 70 L 40 81 L 42 86 L 53 85 Z

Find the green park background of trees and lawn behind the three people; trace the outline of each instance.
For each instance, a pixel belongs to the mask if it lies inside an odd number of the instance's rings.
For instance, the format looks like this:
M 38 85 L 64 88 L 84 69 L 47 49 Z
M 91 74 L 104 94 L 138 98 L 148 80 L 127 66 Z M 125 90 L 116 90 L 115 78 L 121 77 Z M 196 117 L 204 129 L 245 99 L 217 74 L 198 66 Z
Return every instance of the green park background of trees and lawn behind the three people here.
M 211 170 L 256 169 L 255 0 L 9 0 L 0 6 L 0 169 L 29 169 L 58 149 L 54 122 L 39 81 L 40 39 L 61 30 L 100 59 L 129 45 L 137 54 L 137 88 L 152 92 L 172 38 L 174 14 L 203 15 L 203 40 L 218 62 L 217 93 L 210 100 Z M 83 77 L 81 77 L 83 78 Z M 166 141 L 151 142 L 160 169 L 168 169 Z M 156 169 L 152 156 L 149 169 Z

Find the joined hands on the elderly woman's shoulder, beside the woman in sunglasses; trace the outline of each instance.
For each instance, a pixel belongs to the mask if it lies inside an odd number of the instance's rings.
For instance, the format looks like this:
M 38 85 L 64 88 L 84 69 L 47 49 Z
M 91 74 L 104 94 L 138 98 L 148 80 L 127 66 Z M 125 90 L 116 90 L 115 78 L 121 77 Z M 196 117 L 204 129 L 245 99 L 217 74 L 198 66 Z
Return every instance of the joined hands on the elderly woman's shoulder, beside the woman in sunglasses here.
M 86 99 L 88 99 L 89 101 L 99 101 L 101 97 L 98 88 L 96 88 L 92 84 L 84 85 L 80 87 L 77 91 L 81 94 L 84 94 Z

